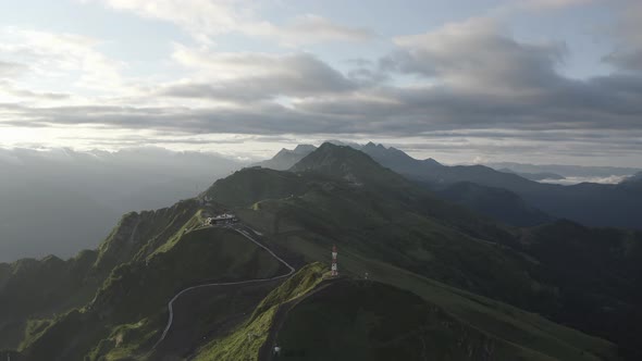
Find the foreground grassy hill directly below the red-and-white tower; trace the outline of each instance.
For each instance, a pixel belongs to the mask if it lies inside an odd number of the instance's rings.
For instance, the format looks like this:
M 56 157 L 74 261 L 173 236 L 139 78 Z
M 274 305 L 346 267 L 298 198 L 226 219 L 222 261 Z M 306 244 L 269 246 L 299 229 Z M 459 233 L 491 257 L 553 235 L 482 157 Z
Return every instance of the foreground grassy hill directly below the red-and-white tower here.
M 195 360 L 616 360 L 614 346 L 501 302 L 348 256 L 384 283 L 324 279 L 312 263 Z M 390 286 L 395 284 L 395 286 Z M 418 297 L 405 289 L 420 290 Z M 480 327 L 481 326 L 481 327 Z

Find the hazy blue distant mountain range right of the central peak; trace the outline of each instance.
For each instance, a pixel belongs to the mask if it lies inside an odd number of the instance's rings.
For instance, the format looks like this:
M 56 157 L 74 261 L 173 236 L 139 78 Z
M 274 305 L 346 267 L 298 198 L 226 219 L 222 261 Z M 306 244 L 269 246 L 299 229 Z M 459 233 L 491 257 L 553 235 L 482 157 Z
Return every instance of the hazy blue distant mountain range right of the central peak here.
M 627 185 L 578 184 L 561 186 L 542 184 L 518 174 L 499 172 L 484 165 L 448 166 L 433 159 L 417 160 L 399 149 L 386 148 L 373 142 L 365 146 L 351 145 L 351 147 L 408 179 L 422 183 L 444 199 L 465 204 L 513 225 L 535 225 L 552 219 L 568 219 L 589 226 L 642 228 L 640 222 L 642 194 L 631 186 L 631 183 L 637 182 L 637 178 L 632 178 Z M 284 169 L 288 164 L 287 161 L 294 165 L 298 159 L 303 159 L 305 153 L 311 150 L 312 148 L 308 147 L 297 152 L 296 157 L 288 155 L 289 158 L 286 159 L 277 154 L 275 159 L 281 162 L 280 165 Z M 587 171 L 587 167 L 567 166 L 561 169 L 576 170 L 576 172 L 579 172 L 578 170 Z M 602 172 L 610 170 L 607 167 L 595 169 Z M 634 171 L 632 169 L 615 170 L 619 172 Z

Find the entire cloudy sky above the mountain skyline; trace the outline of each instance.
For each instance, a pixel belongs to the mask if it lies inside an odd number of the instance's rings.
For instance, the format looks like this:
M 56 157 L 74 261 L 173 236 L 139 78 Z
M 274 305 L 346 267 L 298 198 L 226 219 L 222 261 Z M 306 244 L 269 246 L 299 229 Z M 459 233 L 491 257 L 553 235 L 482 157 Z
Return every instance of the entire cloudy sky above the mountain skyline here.
M 641 1 L 0 1 L 0 147 L 642 166 Z

